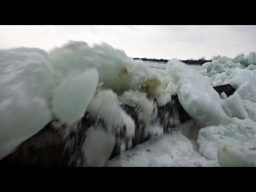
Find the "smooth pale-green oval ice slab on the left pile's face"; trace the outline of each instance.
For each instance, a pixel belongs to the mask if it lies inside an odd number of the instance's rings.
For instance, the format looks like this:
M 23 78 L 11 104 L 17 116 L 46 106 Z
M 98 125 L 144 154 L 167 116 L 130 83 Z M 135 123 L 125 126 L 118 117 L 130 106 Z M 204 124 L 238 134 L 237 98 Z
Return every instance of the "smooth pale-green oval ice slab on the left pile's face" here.
M 95 68 L 65 79 L 54 91 L 52 107 L 55 115 L 68 124 L 81 119 L 96 91 L 98 80 Z

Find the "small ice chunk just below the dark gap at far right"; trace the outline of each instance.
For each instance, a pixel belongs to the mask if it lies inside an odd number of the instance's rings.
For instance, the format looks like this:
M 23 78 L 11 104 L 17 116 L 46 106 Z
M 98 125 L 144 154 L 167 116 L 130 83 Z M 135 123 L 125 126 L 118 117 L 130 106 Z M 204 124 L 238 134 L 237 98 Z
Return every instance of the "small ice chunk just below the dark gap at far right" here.
M 243 101 L 237 93 L 230 95 L 227 99 L 223 99 L 223 108 L 229 117 L 237 117 L 239 119 L 249 118 L 244 108 Z

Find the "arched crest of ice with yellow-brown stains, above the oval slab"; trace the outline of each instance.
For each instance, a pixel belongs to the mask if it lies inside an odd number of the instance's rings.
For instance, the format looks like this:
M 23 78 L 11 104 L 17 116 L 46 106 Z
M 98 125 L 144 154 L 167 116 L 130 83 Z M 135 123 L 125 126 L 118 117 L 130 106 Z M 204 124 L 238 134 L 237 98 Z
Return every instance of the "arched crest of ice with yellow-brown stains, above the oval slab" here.
M 103 87 L 118 93 L 130 89 L 154 93 L 155 84 L 160 83 L 157 73 L 142 61 L 135 61 L 127 57 L 124 51 L 106 43 L 90 47 L 85 42 L 71 41 L 53 50 L 50 61 L 57 71 L 57 82 L 69 74 L 95 67 L 99 73 L 99 82 L 104 83 Z

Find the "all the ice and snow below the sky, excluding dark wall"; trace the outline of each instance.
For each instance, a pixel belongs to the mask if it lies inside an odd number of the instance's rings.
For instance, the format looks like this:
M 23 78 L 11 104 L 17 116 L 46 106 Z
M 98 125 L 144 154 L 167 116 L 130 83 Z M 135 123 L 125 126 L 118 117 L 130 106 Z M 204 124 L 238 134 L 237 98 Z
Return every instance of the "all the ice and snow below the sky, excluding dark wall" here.
M 66 124 L 68 133 L 89 111 L 107 122 L 105 133 L 92 126 L 83 146 L 88 162 L 101 166 L 121 131 L 113 127 L 126 127 L 124 148 L 130 148 L 134 121 L 120 107 L 126 103 L 139 106 L 138 118 L 149 122 L 147 134 L 161 136 L 106 166 L 255 166 L 255 65 L 256 52 L 189 66 L 175 59 L 135 61 L 108 44 L 85 42 L 50 53 L 0 50 L 0 159 L 53 119 Z M 220 97 L 212 86 L 223 84 L 231 84 L 235 94 Z M 193 120 L 163 135 L 163 127 L 150 124 L 153 98 L 165 105 L 172 94 Z

